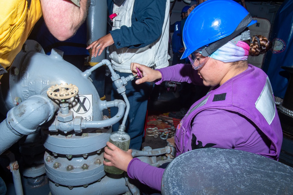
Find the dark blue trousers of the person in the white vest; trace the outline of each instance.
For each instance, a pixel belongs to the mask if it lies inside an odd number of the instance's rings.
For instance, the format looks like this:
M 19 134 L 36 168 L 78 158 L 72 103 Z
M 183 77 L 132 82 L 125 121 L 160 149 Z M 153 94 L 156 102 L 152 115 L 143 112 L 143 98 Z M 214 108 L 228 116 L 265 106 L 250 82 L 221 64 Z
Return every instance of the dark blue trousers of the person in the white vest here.
M 120 73 L 117 72 L 120 77 L 127 77 L 130 73 Z M 144 120 L 147 113 L 147 101 L 149 97 L 149 93 L 151 92 L 151 83 L 142 83 L 135 84 L 135 79 L 133 81 L 129 81 L 126 88 L 126 96 L 130 103 L 130 110 L 126 121 L 126 130 L 125 132 L 130 136 L 130 146 L 129 148 L 139 150 L 142 146 L 142 138 L 144 136 Z M 112 86 L 112 94 L 111 100 L 121 99 L 122 96 L 117 93 L 116 87 L 113 84 Z M 115 116 L 118 112 L 117 107 L 111 107 L 111 117 Z M 118 131 L 118 127 L 121 124 L 123 118 L 120 122 L 113 125 L 113 131 Z

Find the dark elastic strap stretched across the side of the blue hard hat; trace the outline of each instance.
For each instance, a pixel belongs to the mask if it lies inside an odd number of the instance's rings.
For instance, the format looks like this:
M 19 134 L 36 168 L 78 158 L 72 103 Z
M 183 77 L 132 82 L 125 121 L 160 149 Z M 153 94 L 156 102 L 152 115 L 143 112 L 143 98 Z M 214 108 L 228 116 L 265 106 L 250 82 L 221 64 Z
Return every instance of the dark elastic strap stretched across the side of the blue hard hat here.
M 239 33 L 241 33 L 251 21 L 252 21 L 252 16 L 250 15 L 250 13 L 248 13 L 247 16 L 245 16 L 245 18 L 241 21 L 241 23 L 237 26 L 237 28 L 234 30 L 234 32 L 231 35 L 223 39 L 220 39 L 212 43 L 211 45 L 207 46 L 205 49 L 202 50 L 201 54 L 203 56 L 208 56 L 212 54 L 214 51 L 216 51 L 217 49 L 225 45 L 227 42 L 231 41 L 234 37 L 238 36 Z

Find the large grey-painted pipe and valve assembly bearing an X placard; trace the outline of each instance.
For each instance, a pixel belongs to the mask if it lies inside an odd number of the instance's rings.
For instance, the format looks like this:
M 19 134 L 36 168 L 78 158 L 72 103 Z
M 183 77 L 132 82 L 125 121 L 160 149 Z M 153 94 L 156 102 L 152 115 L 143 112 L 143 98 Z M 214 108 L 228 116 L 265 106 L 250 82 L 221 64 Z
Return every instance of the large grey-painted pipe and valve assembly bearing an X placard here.
M 45 55 L 37 42 L 27 40 L 1 80 L 1 111 L 7 118 L 0 124 L 0 154 L 10 159 L 16 194 L 31 194 L 20 173 L 35 189 L 48 184 L 54 195 L 139 194 L 127 174 L 106 175 L 103 169 L 103 148 L 112 125 L 127 117 L 125 85 L 134 77 L 120 78 L 108 60 L 82 72 L 62 55 L 55 49 Z M 124 101 L 100 100 L 89 76 L 102 65 L 109 67 Z M 114 106 L 115 116 L 103 116 L 103 110 Z M 19 166 L 9 150 L 15 143 L 23 159 Z M 171 152 L 171 147 L 147 147 L 132 154 L 156 166 L 171 160 L 157 161 L 156 156 Z

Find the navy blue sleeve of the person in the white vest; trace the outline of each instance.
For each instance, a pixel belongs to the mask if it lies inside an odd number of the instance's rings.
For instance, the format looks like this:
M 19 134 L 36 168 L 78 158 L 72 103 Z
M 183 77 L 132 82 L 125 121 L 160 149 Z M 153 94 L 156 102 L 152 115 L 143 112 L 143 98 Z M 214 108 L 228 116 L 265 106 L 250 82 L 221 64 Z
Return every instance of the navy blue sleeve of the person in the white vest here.
M 131 27 L 121 26 L 110 31 L 117 48 L 145 47 L 156 41 L 161 33 L 165 18 L 166 1 L 136 0 L 134 2 Z

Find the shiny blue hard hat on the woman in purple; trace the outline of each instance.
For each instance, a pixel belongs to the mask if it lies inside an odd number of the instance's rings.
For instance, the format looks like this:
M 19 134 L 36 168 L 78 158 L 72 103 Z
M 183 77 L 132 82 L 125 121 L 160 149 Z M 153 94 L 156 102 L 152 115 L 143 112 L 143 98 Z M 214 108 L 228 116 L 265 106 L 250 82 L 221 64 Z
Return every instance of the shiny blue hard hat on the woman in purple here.
M 245 21 L 244 24 L 243 21 Z M 239 31 L 239 28 L 237 28 L 238 26 L 244 25 L 241 27 L 242 30 L 240 29 L 243 31 L 247 26 L 256 22 L 256 20 L 252 20 L 248 11 L 235 1 L 205 1 L 193 9 L 184 24 L 183 43 L 185 51 L 181 59 L 188 57 L 188 55 L 202 46 L 209 45 L 222 39 L 226 41 L 224 39 L 225 37 L 229 39 L 237 33 L 237 30 Z M 239 32 L 234 37 L 238 35 Z M 223 42 L 223 40 L 221 42 Z M 227 40 L 222 45 L 230 40 Z M 218 48 L 219 47 L 216 49 Z

